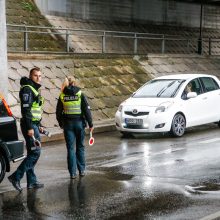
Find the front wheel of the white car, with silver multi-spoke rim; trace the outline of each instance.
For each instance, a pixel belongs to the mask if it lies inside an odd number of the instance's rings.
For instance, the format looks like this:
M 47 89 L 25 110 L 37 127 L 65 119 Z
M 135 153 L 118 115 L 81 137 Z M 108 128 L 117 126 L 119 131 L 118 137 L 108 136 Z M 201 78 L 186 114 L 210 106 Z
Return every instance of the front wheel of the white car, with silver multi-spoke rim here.
M 185 133 L 186 129 L 186 120 L 182 114 L 176 114 L 173 117 L 172 125 L 171 125 L 171 134 L 175 137 L 181 137 Z

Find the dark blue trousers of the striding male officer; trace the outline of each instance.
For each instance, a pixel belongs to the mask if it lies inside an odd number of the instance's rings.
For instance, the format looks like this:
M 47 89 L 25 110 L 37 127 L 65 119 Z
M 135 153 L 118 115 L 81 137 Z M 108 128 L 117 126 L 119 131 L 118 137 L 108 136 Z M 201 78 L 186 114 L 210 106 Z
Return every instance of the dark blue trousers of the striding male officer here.
M 39 127 L 36 124 L 33 124 L 33 129 L 35 138 L 40 141 Z M 34 173 L 34 167 L 40 157 L 41 149 L 36 148 L 31 150 L 31 148 L 34 147 L 34 141 L 32 137 L 27 135 L 28 130 L 22 120 L 21 131 L 26 141 L 27 157 L 22 161 L 22 163 L 12 175 L 17 181 L 20 181 L 26 172 L 27 185 L 29 186 L 37 182 L 37 177 Z

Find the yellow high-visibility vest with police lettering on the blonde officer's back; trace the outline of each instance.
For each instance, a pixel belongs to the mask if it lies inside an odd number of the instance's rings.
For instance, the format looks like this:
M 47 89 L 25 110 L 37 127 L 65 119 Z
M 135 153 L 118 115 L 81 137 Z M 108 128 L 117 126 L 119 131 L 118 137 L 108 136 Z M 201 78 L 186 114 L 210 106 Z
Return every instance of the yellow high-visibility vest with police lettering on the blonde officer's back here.
M 63 103 L 63 113 L 66 115 L 80 115 L 81 111 L 81 90 L 75 95 L 60 94 Z

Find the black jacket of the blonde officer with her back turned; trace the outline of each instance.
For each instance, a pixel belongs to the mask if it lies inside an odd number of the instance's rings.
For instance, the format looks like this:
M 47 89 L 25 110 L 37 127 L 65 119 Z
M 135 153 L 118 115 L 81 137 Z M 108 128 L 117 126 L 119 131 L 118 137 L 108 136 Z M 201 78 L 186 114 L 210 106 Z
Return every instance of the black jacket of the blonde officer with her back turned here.
M 77 92 L 80 91 L 80 88 L 77 86 L 68 86 L 64 89 L 63 93 L 65 95 L 76 95 Z M 86 100 L 86 97 L 83 93 L 81 93 L 81 115 L 66 115 L 63 113 L 63 103 L 59 97 L 56 107 L 56 118 L 60 125 L 60 127 L 63 127 L 63 120 L 65 119 L 75 119 L 75 120 L 82 120 L 83 122 L 87 121 L 89 124 L 89 127 L 93 127 L 92 123 L 92 114 L 90 111 L 90 106 Z M 86 123 L 86 122 L 85 122 Z M 86 127 L 86 124 L 85 124 Z

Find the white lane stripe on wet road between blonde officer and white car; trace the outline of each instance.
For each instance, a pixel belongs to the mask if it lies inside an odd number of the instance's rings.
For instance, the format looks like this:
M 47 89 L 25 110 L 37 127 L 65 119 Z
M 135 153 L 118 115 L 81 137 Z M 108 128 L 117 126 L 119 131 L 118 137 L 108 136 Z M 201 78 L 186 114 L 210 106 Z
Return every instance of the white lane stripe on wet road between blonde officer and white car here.
M 163 151 L 159 151 L 159 152 L 155 152 L 155 153 L 150 153 L 148 155 L 140 155 L 140 156 L 131 156 L 131 157 L 126 157 L 124 159 L 121 158 L 117 158 L 115 159 L 113 162 L 109 162 L 109 163 L 105 163 L 102 164 L 101 167 L 114 167 L 114 166 L 119 166 L 125 163 L 130 163 L 136 160 L 140 160 L 143 159 L 144 157 L 149 157 L 149 156 L 157 156 L 157 155 L 161 155 L 161 154 L 170 154 L 170 153 L 175 153 L 181 150 L 185 150 L 185 148 L 175 148 L 175 149 L 167 149 L 167 150 L 163 150 Z

